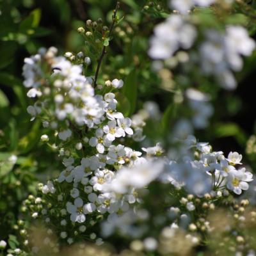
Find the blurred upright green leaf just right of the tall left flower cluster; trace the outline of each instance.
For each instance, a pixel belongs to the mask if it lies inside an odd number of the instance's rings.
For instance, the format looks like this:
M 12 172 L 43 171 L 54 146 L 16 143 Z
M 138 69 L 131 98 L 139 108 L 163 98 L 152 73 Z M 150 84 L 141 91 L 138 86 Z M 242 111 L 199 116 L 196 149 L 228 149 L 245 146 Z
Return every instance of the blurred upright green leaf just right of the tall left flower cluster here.
M 122 89 L 124 96 L 130 103 L 129 115 L 134 113 L 137 102 L 137 71 L 133 69 L 126 77 L 124 86 Z

